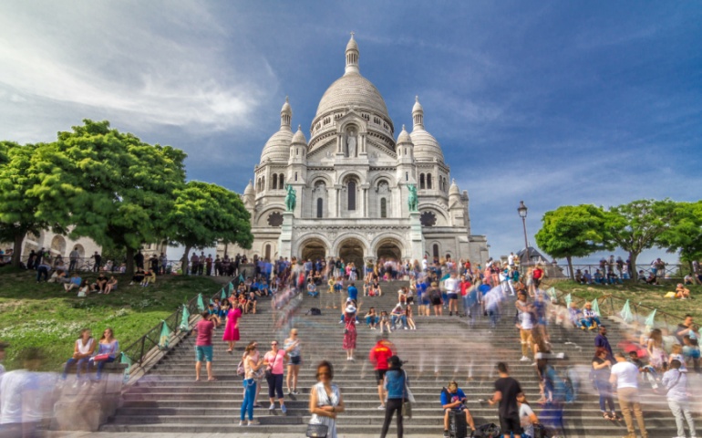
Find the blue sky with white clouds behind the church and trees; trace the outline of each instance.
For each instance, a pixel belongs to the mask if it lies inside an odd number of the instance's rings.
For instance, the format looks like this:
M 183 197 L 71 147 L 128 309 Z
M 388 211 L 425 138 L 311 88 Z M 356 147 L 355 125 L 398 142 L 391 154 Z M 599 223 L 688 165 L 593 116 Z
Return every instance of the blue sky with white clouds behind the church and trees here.
M 491 255 L 523 246 L 522 199 L 533 241 L 562 204 L 702 194 L 698 2 L 27 1 L 0 29 L 0 138 L 110 120 L 237 192 L 286 95 L 309 137 L 353 30 L 396 132 L 419 96 Z

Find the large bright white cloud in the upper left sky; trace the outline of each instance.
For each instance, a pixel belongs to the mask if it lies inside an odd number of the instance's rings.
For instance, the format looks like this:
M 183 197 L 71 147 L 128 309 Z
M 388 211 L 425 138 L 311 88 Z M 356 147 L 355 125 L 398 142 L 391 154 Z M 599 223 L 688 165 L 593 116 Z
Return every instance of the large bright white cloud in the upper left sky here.
M 11 102 L 67 105 L 130 127 L 247 127 L 277 83 L 264 57 L 191 1 L 4 4 L 0 28 Z M 18 121 L 0 121 L 5 137 Z

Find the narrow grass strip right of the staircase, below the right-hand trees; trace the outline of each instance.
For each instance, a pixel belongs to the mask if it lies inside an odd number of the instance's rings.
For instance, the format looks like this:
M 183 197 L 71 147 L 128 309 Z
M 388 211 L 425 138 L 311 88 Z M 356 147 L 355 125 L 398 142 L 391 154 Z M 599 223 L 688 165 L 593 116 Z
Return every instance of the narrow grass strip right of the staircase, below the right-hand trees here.
M 645 306 L 647 308 L 657 308 L 659 312 L 666 312 L 672 315 L 683 317 L 686 314 L 692 315 L 696 322 L 702 322 L 702 286 L 687 286 L 690 289 L 690 296 L 693 299 L 679 300 L 664 298 L 666 292 L 676 290 L 676 281 L 665 280 L 662 286 L 650 286 L 641 283 L 627 282 L 623 286 L 600 286 L 600 285 L 579 285 L 574 281 L 552 281 L 546 280 L 544 283 L 553 286 L 565 293 L 571 293 L 573 297 L 581 297 L 583 299 L 593 299 L 594 297 L 603 297 L 604 295 L 612 295 L 622 299 L 629 299 L 629 304 L 634 311 L 634 306 Z M 622 309 L 624 301 L 617 304 L 614 301 L 614 309 L 616 312 Z M 604 311 L 603 305 L 600 308 Z M 640 314 L 648 315 L 651 310 L 647 308 L 640 309 Z M 610 312 L 609 304 L 606 306 L 606 313 Z M 656 313 L 656 315 L 658 315 Z M 662 317 L 656 316 L 656 321 L 663 321 Z M 677 324 L 680 321 L 668 320 L 670 323 Z

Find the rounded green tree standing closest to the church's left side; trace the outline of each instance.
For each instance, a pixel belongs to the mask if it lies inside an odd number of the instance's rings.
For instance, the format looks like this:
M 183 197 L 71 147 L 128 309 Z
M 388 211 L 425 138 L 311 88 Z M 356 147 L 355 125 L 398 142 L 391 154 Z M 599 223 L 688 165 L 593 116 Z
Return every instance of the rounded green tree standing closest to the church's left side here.
M 192 248 L 216 245 L 218 241 L 251 248 L 250 214 L 237 193 L 216 184 L 191 181 L 177 189 L 174 198 L 167 221 L 172 230 L 169 241 L 185 246 L 183 273 Z

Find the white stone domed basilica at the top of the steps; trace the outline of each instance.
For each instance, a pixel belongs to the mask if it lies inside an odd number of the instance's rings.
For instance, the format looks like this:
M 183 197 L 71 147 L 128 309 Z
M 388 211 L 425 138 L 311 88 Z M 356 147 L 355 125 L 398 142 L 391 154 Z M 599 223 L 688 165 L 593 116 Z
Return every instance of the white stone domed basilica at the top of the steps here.
M 397 137 L 386 103 L 361 76 L 354 36 L 346 68 L 319 102 L 309 131 L 292 130 L 288 99 L 280 130 L 266 141 L 243 202 L 251 214 L 253 248 L 268 259 L 341 256 L 356 265 L 379 257 L 396 260 L 447 255 L 488 258 L 484 235 L 472 235 L 469 197 L 451 182 L 439 142 L 426 130 L 418 99 L 411 132 Z M 294 189 L 294 210 L 285 194 Z M 418 193 L 411 212 L 408 193 Z M 218 248 L 220 255 L 223 247 Z M 243 251 L 229 248 L 230 255 Z

